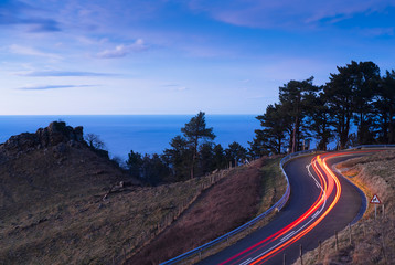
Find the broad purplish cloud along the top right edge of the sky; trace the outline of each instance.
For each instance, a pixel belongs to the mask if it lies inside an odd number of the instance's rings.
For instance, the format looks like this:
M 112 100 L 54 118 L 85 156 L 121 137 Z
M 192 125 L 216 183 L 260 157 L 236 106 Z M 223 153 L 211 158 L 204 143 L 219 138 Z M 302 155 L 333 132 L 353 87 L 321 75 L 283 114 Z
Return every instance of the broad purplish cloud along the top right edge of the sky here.
M 215 20 L 252 28 L 295 29 L 332 24 L 361 12 L 381 12 L 394 7 L 392 0 L 235 0 L 224 6 L 220 0 L 192 0 L 191 10 L 207 13 Z

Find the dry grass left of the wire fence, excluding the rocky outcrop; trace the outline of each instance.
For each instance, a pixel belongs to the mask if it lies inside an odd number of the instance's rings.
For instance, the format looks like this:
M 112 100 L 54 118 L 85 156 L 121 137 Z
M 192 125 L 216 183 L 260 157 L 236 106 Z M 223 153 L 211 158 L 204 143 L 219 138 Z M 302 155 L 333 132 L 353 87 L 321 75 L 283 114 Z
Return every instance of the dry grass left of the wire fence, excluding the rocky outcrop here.
M 221 177 L 221 176 L 216 176 Z M 218 178 L 110 193 L 125 176 L 89 150 L 49 149 L 0 167 L 0 264 L 118 264 Z

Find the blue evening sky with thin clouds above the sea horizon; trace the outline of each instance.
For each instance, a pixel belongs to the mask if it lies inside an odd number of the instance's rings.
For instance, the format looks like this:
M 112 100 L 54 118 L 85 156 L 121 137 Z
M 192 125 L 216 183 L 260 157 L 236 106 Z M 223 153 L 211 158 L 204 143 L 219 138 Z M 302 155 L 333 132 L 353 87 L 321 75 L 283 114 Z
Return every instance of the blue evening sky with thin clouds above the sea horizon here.
M 0 0 L 0 115 L 261 114 L 337 66 L 395 68 L 394 0 Z

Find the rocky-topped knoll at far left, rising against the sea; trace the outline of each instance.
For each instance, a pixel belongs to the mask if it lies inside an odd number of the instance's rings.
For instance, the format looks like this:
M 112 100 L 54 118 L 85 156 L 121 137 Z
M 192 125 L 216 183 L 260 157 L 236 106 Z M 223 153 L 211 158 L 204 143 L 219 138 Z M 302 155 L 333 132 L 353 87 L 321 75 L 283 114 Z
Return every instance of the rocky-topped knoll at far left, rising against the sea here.
M 88 148 L 82 127 L 52 123 L 0 145 L 0 219 L 100 194 L 126 180 L 116 165 Z

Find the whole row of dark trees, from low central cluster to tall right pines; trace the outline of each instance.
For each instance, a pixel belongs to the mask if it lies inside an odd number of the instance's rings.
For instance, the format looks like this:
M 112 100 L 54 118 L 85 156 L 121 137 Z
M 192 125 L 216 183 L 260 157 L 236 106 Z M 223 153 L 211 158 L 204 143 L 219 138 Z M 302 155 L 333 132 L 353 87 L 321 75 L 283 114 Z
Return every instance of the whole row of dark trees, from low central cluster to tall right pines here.
M 381 76 L 373 62 L 352 61 L 330 74 L 325 85 L 317 86 L 310 77 L 279 87 L 279 102 L 256 117 L 261 128 L 255 130 L 248 149 L 237 142 L 225 149 L 214 144 L 213 128 L 206 127 L 201 112 L 162 155 L 131 150 L 126 165 L 134 177 L 157 184 L 204 176 L 245 159 L 309 148 L 327 150 L 330 142 L 335 142 L 337 149 L 395 144 L 394 116 L 395 72 Z

